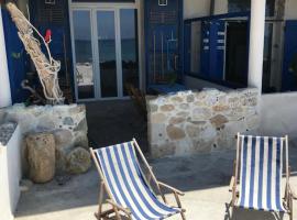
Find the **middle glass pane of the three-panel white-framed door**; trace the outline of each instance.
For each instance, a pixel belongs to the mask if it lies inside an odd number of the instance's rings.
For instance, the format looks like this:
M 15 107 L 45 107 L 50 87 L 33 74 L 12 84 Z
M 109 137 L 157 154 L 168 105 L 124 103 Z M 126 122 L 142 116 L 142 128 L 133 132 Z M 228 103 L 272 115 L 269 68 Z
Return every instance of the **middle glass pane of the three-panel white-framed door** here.
M 113 11 L 97 12 L 101 97 L 117 97 L 116 26 Z

